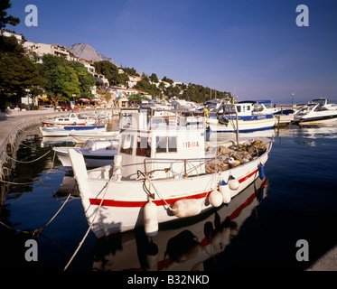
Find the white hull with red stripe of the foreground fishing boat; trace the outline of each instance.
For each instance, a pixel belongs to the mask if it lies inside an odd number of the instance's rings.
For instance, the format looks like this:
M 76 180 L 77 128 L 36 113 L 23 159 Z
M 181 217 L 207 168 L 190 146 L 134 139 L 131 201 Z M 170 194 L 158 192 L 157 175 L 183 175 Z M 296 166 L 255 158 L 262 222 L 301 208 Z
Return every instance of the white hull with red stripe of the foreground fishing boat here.
M 270 147 L 271 144 L 269 150 Z M 181 219 L 174 216 L 171 210 L 172 205 L 178 200 L 199 201 L 201 213 L 214 208 L 209 200 L 211 191 L 217 190 L 220 180 L 229 180 L 229 175 L 239 181 L 238 190 L 229 190 L 231 198 L 236 196 L 257 179 L 259 176 L 257 166 L 259 163 L 267 162 L 267 153 L 251 162 L 220 173 L 208 173 L 179 180 L 152 180 L 152 185 L 147 183 L 146 187 L 151 187 L 151 193 L 154 193 L 153 203 L 157 208 L 158 223 Z M 87 219 L 89 224 L 92 223 L 91 229 L 98 238 L 144 226 L 144 207 L 148 201 L 148 193 L 144 189 L 143 181 L 117 182 L 113 179 L 109 181 L 83 177 L 82 168 L 76 167 L 79 166 L 79 162 L 76 163 L 71 157 L 71 163 Z

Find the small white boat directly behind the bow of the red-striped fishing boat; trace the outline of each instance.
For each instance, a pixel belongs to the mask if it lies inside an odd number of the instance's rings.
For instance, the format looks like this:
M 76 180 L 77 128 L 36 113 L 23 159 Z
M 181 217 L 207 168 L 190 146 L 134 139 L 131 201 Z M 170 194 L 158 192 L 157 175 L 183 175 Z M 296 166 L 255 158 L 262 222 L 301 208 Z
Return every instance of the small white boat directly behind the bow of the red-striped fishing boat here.
M 84 162 L 88 168 L 113 165 L 115 155 L 118 152 L 119 140 L 112 139 L 89 139 L 81 147 L 75 147 L 74 150 L 82 154 Z M 53 147 L 56 155 L 65 167 L 71 167 L 69 147 Z

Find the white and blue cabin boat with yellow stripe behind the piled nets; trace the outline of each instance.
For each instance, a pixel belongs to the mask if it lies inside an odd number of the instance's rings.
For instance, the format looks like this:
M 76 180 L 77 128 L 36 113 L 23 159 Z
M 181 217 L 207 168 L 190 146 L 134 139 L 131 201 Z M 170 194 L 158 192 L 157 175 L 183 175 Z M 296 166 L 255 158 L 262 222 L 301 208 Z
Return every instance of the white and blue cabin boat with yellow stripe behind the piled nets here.
M 224 103 L 217 112 L 209 114 L 206 122 L 214 132 L 247 132 L 276 125 L 276 117 L 272 114 L 255 113 L 253 108 L 251 101 Z

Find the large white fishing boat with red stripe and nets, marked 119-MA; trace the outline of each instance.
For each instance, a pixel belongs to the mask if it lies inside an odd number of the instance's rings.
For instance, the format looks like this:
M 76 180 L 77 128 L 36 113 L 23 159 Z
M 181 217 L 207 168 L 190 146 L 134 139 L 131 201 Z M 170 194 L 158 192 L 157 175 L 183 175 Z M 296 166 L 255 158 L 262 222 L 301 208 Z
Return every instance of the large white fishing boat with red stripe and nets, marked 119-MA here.
M 114 167 L 88 171 L 83 155 L 69 149 L 82 205 L 98 238 L 139 226 L 155 236 L 158 224 L 229 203 L 264 177 L 270 139 L 211 148 L 205 145 L 205 121 L 183 126 L 187 122 L 178 125 L 170 116 L 159 123 L 147 113 L 133 113 L 132 123 L 121 127 Z

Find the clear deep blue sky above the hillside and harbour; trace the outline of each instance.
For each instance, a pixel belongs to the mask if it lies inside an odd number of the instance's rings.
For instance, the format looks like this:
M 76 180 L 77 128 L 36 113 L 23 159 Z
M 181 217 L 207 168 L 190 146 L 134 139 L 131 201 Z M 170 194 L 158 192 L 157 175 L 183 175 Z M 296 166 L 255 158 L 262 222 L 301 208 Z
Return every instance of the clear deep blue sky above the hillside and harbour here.
M 12 0 L 33 42 L 86 42 L 117 64 L 212 89 L 239 100 L 337 100 L 337 1 Z M 26 5 L 38 26 L 24 24 Z M 297 5 L 309 8 L 298 27 Z

